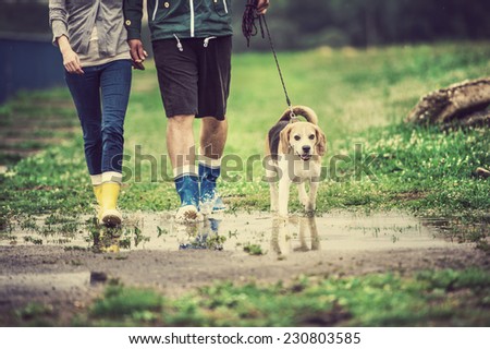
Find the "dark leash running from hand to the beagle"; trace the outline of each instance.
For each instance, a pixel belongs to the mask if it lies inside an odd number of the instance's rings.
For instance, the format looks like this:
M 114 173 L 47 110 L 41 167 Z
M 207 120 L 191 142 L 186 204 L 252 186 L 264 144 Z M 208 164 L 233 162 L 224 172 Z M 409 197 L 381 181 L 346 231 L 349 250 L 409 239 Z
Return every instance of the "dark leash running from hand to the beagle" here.
M 267 25 L 267 20 L 265 14 L 257 14 L 257 0 L 247 0 L 245 5 L 245 12 L 242 20 L 242 33 L 247 39 L 247 47 L 250 47 L 250 38 L 258 34 L 257 25 L 255 20 L 258 20 L 260 34 L 262 39 L 266 38 L 264 26 L 266 27 L 267 37 L 269 39 L 270 49 L 274 56 L 275 67 L 278 68 L 279 77 L 281 79 L 282 89 L 284 91 L 284 96 L 286 99 L 287 107 L 290 108 L 291 122 L 297 121 L 297 116 L 294 113 L 293 106 L 291 104 L 290 95 L 287 94 L 287 88 L 284 83 L 284 77 L 282 76 L 281 67 L 279 65 L 278 55 L 275 52 L 274 44 L 272 41 L 272 36 L 270 35 L 269 26 Z M 264 23 L 264 25 L 262 25 Z

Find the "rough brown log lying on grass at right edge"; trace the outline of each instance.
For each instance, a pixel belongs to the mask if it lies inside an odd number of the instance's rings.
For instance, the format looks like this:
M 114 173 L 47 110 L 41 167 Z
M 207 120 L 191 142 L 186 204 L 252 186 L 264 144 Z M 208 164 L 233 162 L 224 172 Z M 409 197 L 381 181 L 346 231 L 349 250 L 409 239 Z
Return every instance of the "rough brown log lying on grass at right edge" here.
M 422 96 L 406 122 L 441 124 L 473 118 L 469 124 L 487 123 L 490 77 L 464 81 Z M 488 123 L 487 123 L 488 124 Z

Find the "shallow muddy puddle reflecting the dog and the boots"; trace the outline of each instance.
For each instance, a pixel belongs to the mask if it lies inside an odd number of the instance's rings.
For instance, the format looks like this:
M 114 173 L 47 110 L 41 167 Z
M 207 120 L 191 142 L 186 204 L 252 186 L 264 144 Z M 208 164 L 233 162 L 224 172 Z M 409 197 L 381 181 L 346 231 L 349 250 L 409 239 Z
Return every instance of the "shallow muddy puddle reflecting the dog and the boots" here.
M 51 221 L 50 221 L 51 220 Z M 306 251 L 377 251 L 455 245 L 444 239 L 442 219 L 419 219 L 402 213 L 364 215 L 331 213 L 319 217 L 267 213 L 212 215 L 204 222 L 179 225 L 171 213 L 133 213 L 120 229 L 98 228 L 90 217 L 52 222 L 52 217 L 22 224 L 0 245 L 62 245 L 66 250 L 224 250 L 287 255 Z M 48 221 L 48 222 L 47 222 Z

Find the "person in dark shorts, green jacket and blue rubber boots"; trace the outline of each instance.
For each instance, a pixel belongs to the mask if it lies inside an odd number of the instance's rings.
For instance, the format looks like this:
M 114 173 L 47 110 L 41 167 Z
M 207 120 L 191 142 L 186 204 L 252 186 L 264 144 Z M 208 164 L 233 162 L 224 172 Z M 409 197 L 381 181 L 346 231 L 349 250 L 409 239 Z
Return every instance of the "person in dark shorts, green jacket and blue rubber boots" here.
M 264 14 L 269 0 L 257 1 Z M 167 147 L 181 198 L 175 219 L 195 221 L 224 209 L 217 193 L 228 134 L 232 24 L 231 0 L 148 0 L 148 24 L 168 118 Z M 143 0 L 124 0 L 124 23 L 134 64 L 147 53 L 140 39 Z M 199 154 L 193 135 L 203 120 Z

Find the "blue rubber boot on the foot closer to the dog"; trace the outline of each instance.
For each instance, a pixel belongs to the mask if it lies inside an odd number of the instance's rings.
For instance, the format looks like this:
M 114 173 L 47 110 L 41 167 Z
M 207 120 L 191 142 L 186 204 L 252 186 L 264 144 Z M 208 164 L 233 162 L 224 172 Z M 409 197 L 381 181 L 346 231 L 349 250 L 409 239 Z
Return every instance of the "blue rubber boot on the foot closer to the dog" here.
M 220 167 L 206 166 L 199 163 L 199 181 L 200 181 L 200 207 L 205 214 L 216 213 L 226 209 L 221 197 L 216 191 L 216 181 L 220 177 Z

